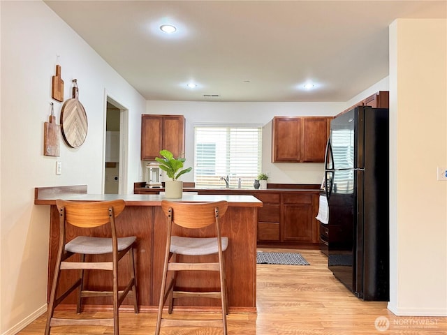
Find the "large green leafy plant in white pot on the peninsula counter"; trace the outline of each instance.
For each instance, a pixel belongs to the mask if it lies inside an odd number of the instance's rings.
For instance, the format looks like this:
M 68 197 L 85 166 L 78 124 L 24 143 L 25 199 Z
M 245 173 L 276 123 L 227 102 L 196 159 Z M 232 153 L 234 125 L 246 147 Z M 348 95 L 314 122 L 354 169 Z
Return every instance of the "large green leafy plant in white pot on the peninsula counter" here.
M 169 150 L 163 149 L 160 151 L 163 158 L 156 157 L 155 160 L 160 163 L 161 170 L 166 172 L 170 180 L 165 181 L 165 196 L 166 198 L 182 198 L 183 181 L 178 180 L 182 174 L 190 172 L 193 168 L 183 168 L 185 158 L 174 158 L 174 155 Z

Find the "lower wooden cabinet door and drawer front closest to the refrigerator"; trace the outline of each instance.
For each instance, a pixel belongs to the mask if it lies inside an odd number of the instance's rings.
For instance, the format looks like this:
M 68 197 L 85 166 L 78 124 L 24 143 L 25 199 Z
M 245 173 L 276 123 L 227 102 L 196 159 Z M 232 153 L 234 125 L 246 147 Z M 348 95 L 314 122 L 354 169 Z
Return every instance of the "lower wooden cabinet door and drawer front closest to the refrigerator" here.
M 314 241 L 312 194 L 283 194 L 282 241 Z

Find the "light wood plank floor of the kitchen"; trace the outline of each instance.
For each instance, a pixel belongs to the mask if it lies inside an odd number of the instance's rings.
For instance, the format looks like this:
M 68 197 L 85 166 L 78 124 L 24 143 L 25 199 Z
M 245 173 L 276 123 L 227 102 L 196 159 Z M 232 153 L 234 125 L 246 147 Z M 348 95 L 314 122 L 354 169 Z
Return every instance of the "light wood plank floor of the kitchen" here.
M 327 258 L 320 251 L 299 252 L 310 263 L 309 266 L 258 265 L 258 313 L 230 313 L 228 334 L 447 334 L 447 318 L 397 317 L 386 309 L 386 302 L 362 301 L 353 296 L 332 276 L 327 267 Z M 59 315 L 63 314 L 73 315 L 59 312 Z M 45 320 L 46 315 L 42 315 L 18 334 L 43 334 Z M 155 322 L 156 313 L 120 313 L 119 334 L 154 334 Z M 385 328 L 387 325 L 388 329 Z M 112 327 L 53 327 L 51 334 L 112 334 Z M 173 327 L 161 329 L 161 334 L 214 335 L 222 334 L 222 330 Z

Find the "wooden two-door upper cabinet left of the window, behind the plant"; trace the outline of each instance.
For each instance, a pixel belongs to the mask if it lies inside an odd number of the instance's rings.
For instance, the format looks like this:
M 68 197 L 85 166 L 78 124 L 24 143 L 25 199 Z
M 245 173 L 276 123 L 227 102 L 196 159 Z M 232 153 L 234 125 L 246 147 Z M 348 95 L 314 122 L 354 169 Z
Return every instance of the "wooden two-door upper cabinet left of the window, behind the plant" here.
M 184 155 L 183 115 L 141 116 L 141 160 L 155 161 L 160 150 L 171 151 L 175 158 Z

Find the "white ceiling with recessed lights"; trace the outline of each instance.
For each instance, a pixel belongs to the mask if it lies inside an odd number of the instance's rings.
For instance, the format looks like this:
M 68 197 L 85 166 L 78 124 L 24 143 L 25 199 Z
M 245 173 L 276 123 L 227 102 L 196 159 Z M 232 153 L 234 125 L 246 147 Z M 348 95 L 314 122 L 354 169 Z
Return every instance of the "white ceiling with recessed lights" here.
M 162 101 L 348 101 L 388 75 L 393 20 L 447 13 L 446 0 L 45 3 L 142 96 Z M 161 34 L 164 22 L 177 34 Z

